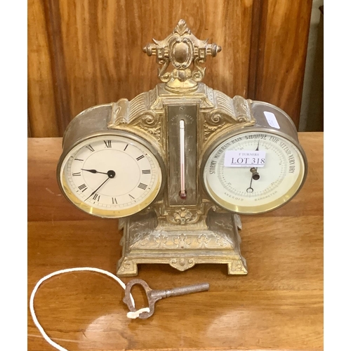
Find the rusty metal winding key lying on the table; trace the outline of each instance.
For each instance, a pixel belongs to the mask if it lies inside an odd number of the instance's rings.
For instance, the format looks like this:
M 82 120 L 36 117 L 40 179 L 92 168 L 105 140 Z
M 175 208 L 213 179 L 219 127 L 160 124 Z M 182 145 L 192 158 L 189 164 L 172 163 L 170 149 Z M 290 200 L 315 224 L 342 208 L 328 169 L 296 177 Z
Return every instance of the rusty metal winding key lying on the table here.
M 154 304 L 157 303 L 161 298 L 168 298 L 170 296 L 180 296 L 187 295 L 188 293 L 197 293 L 199 291 L 207 291 L 210 288 L 210 284 L 201 283 L 188 286 L 180 286 L 174 289 L 165 289 L 165 290 L 154 290 L 142 279 L 132 279 L 128 284 L 126 284 L 125 296 L 123 302 L 128 306 L 131 312 L 135 312 L 136 308 L 133 306 L 131 300 L 131 289 L 135 284 L 143 286 L 149 302 L 150 312 L 143 312 L 139 314 L 139 318 L 147 319 L 154 314 Z

